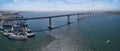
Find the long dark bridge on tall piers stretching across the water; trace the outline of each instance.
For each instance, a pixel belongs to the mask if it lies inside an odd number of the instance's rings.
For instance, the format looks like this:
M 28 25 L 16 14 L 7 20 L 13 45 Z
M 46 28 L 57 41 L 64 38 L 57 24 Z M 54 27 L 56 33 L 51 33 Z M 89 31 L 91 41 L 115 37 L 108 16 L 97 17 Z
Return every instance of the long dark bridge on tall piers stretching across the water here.
M 85 13 L 75 13 L 75 14 L 65 14 L 65 15 L 55 15 L 55 16 L 46 16 L 46 17 L 31 17 L 31 18 L 24 18 L 22 15 L 19 15 L 19 18 L 5 18 L 0 20 L 36 20 L 36 19 L 48 19 L 49 20 L 49 26 L 48 28 L 51 30 L 52 27 L 52 18 L 58 18 L 58 17 L 67 17 L 67 24 L 71 24 L 70 17 L 75 16 L 77 17 L 76 20 L 80 20 L 86 17 L 95 17 L 97 14 L 103 14 L 103 13 L 95 13 L 95 12 L 85 12 Z

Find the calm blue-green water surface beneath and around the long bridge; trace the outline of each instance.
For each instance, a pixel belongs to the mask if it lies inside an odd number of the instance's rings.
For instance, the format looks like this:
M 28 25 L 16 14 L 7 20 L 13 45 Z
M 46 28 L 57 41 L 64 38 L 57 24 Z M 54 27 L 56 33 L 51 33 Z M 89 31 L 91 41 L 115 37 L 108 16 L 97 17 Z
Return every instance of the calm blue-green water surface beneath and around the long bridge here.
M 25 17 L 68 14 L 70 12 L 23 12 Z M 0 51 L 120 51 L 120 15 L 96 15 L 71 25 L 66 18 L 52 19 L 53 29 L 47 30 L 48 20 L 28 20 L 29 28 L 37 31 L 27 41 L 9 40 L 0 34 Z M 110 40 L 107 44 L 106 41 Z

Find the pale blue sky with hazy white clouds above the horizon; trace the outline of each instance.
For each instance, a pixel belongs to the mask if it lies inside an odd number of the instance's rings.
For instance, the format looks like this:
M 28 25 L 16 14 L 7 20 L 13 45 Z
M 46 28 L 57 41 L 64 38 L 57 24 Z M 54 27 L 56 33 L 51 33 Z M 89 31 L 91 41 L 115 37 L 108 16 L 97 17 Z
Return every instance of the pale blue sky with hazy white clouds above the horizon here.
M 120 10 L 120 0 L 0 0 L 0 10 L 108 11 Z

